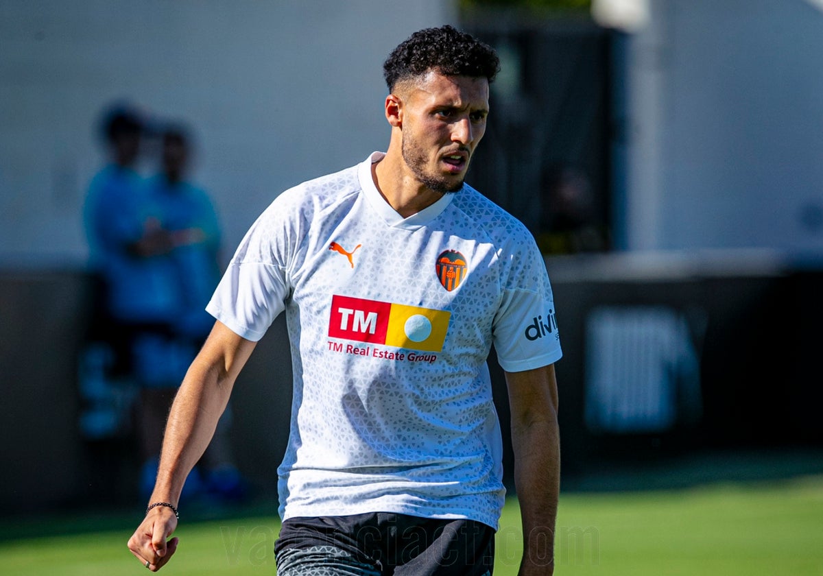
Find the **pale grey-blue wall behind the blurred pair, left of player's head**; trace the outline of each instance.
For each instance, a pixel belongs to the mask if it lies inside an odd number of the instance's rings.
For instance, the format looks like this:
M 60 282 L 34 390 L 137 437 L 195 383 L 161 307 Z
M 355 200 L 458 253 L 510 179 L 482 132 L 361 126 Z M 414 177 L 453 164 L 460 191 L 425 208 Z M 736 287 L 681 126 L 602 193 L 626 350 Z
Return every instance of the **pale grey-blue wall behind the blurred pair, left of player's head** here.
M 95 129 L 119 99 L 193 126 L 233 251 L 283 189 L 384 149 L 383 60 L 452 4 L 0 2 L 0 262 L 85 262 Z

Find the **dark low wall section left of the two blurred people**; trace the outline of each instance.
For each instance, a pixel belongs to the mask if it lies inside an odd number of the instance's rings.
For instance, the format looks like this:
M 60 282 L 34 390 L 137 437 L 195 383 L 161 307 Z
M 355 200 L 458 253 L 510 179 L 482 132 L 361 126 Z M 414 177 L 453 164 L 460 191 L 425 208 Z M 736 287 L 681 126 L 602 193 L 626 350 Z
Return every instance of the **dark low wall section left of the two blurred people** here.
M 77 355 L 87 288 L 74 272 L 0 274 L 0 499 L 10 511 L 82 491 Z

